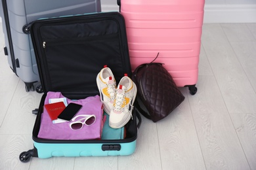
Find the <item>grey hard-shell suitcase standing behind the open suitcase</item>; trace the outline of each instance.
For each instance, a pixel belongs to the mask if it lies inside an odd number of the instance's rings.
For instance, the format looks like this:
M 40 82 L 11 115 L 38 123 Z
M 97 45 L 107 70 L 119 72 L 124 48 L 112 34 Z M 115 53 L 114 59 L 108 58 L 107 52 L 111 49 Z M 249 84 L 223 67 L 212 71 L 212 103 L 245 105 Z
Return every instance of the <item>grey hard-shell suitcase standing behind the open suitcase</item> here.
M 100 0 L 2 0 L 0 16 L 5 34 L 4 52 L 14 73 L 33 91 L 39 81 L 31 37 L 24 25 L 55 16 L 100 12 Z M 41 88 L 36 88 L 41 92 Z

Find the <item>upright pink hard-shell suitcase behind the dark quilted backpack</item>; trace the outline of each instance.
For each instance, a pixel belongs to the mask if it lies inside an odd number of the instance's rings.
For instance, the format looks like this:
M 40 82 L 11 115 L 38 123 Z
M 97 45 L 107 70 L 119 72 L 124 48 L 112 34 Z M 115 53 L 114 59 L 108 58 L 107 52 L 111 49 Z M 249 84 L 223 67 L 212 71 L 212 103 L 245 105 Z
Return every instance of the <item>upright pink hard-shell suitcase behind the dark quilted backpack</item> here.
M 164 63 L 179 87 L 197 92 L 204 0 L 119 0 L 131 67 Z

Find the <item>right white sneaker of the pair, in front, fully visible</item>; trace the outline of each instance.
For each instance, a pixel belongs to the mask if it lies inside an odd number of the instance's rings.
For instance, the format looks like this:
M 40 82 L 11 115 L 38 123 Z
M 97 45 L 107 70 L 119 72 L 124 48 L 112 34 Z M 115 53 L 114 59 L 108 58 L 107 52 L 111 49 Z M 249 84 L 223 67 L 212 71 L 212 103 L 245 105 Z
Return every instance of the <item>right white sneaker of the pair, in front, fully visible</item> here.
M 135 83 L 128 76 L 123 76 L 117 86 L 116 99 L 110 112 L 110 127 L 120 128 L 129 122 L 136 95 L 137 87 Z

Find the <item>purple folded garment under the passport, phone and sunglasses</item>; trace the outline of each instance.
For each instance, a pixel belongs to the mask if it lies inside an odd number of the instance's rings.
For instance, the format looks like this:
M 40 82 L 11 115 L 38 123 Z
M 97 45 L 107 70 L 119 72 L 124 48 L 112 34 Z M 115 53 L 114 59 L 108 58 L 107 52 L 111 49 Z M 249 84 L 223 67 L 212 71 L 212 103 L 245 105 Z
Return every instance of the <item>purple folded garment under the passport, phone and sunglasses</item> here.
M 48 92 L 45 98 L 45 104 L 49 104 L 49 99 L 56 99 L 64 97 L 60 92 Z M 60 124 L 53 124 L 47 110 L 44 108 L 41 115 L 41 126 L 38 136 L 42 139 L 57 139 L 57 140 L 86 140 L 86 139 L 100 139 L 102 133 L 102 103 L 98 95 L 87 97 L 85 99 L 71 100 L 67 98 L 69 103 L 77 103 L 83 107 L 77 112 L 80 114 L 95 114 L 96 121 L 91 126 L 84 125 L 79 130 L 70 128 L 70 122 Z M 79 120 L 79 118 L 78 118 Z

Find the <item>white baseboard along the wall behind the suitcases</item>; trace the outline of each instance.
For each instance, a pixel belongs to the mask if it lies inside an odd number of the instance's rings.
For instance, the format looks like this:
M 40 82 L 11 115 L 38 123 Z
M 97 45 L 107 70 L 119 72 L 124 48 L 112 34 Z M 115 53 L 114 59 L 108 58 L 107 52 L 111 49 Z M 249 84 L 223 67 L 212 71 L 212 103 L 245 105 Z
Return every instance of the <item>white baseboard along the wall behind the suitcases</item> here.
M 118 11 L 118 5 L 102 5 L 102 11 Z M 204 23 L 256 23 L 256 5 L 207 5 Z

